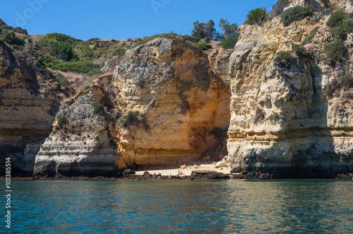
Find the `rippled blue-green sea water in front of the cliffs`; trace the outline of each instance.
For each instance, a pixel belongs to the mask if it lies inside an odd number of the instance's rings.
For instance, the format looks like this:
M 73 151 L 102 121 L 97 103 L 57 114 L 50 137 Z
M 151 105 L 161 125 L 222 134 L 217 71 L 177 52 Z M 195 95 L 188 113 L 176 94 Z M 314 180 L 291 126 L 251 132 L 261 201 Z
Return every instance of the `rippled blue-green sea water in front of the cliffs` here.
M 12 233 L 353 233 L 352 180 L 30 181 L 12 188 Z

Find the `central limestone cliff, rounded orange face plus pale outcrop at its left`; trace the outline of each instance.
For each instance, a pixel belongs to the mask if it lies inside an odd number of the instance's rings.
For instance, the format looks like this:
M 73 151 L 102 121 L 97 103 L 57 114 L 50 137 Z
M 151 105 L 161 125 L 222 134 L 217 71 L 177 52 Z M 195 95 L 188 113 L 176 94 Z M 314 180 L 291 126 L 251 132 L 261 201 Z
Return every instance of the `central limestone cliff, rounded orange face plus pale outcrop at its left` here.
M 227 154 L 229 92 L 206 54 L 181 38 L 128 50 L 70 107 L 42 144 L 35 174 L 102 175 L 179 167 Z M 94 100 L 104 106 L 93 112 Z M 224 147 L 222 147 L 224 146 Z

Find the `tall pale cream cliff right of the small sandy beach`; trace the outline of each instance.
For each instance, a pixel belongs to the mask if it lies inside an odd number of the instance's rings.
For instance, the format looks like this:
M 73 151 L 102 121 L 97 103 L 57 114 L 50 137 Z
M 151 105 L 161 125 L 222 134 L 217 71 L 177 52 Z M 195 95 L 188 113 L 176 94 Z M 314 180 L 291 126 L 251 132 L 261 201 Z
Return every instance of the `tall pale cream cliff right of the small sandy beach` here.
M 304 1 L 292 1 L 292 5 Z M 333 1 L 331 1 L 333 4 Z M 335 1 L 350 13 L 348 1 Z M 350 74 L 352 62 L 328 64 L 325 42 L 332 30 L 305 18 L 284 27 L 280 17 L 263 25 L 244 25 L 230 57 L 231 121 L 227 148 L 234 172 L 270 177 L 334 177 L 353 170 L 352 89 L 329 84 Z M 319 26 L 310 56 L 292 52 L 287 64 L 276 53 L 291 51 Z M 345 41 L 352 57 L 352 34 Z M 332 94 L 333 93 L 333 94 Z M 249 174 L 250 173 L 250 174 Z

